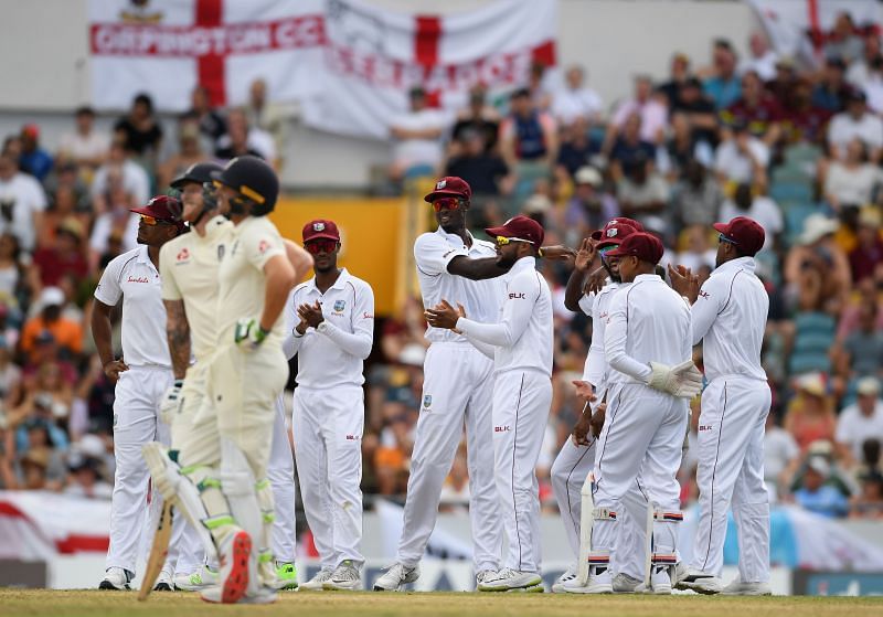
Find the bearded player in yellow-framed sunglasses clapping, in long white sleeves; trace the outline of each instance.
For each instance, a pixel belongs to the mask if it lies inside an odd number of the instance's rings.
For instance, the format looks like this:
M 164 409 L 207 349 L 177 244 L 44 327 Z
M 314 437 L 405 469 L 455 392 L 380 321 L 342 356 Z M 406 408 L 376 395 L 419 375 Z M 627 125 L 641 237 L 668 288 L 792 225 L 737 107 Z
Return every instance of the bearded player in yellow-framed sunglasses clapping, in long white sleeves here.
M 544 233 L 526 216 L 510 219 L 486 233 L 497 238 L 498 264 L 511 268 L 498 319 L 477 321 L 468 313 L 460 317 L 447 298 L 427 309 L 426 319 L 434 328 L 456 329 L 482 353 L 493 357 L 493 471 L 509 552 L 504 567 L 479 582 L 478 589 L 542 592 L 535 469 L 552 403 L 554 336 L 552 296 L 536 272 L 536 253 Z

